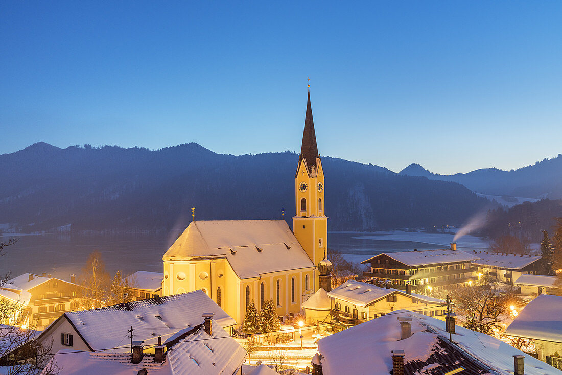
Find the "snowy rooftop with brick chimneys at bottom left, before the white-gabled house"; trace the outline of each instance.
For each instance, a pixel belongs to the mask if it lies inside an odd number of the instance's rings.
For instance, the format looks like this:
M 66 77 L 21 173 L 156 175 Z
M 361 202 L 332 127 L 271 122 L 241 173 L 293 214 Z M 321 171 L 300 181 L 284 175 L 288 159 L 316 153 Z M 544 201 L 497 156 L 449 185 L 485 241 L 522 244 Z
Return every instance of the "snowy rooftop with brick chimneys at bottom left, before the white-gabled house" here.
M 60 350 L 51 364 L 61 375 L 241 374 L 246 350 L 211 317 L 201 317 L 201 324 L 155 346 L 154 354 L 143 353 L 137 342 L 133 353 Z

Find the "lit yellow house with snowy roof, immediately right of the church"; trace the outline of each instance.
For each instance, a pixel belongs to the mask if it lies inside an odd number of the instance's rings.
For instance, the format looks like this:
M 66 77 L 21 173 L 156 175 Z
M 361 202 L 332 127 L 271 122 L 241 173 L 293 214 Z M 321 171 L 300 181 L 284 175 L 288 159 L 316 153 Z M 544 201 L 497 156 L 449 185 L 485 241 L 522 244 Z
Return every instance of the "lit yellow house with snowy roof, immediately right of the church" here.
M 394 310 L 407 309 L 430 317 L 444 317 L 445 301 L 406 291 L 349 280 L 328 292 L 332 303 L 330 314 L 343 326 L 353 326 L 382 317 Z

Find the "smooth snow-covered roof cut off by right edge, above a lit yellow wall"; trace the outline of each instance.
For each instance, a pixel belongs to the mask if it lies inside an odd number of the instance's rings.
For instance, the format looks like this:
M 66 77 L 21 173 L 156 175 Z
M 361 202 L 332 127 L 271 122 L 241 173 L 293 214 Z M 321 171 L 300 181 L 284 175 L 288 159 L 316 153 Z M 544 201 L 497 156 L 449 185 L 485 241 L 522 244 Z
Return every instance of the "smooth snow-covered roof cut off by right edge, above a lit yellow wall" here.
M 562 297 L 541 294 L 513 319 L 505 333 L 511 336 L 562 342 Z

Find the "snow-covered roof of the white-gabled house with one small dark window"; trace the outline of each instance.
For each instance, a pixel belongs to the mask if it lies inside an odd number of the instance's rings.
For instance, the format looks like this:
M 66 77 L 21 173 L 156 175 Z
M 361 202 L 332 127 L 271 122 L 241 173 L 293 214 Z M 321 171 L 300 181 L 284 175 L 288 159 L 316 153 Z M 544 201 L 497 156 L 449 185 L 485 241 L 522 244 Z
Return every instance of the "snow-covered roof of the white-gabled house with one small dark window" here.
M 221 327 L 236 324 L 201 290 L 160 297 L 158 300 L 65 313 L 59 319 L 66 317 L 93 350 L 119 348 L 115 350 L 119 352 L 129 350 L 124 340 L 129 327 L 134 328 L 135 340 L 153 345 L 158 336 L 165 341 L 184 328 L 197 326 L 204 313 L 214 313 L 214 319 Z M 54 326 L 56 323 L 43 331 L 42 336 L 47 335 Z

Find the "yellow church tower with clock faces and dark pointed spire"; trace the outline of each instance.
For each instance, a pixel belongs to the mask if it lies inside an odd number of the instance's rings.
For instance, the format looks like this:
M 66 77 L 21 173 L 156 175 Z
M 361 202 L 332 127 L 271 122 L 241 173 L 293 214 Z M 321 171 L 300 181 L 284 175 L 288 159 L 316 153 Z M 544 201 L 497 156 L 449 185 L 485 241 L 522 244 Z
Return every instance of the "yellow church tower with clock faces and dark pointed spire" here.
M 294 236 L 297 237 L 312 263 L 316 265 L 324 259 L 324 251 L 328 249 L 328 218 L 324 213 L 324 170 L 316 146 L 310 105 L 310 85 L 301 155 L 294 178 L 294 191 L 296 208 L 296 215 L 293 217 Z M 315 292 L 319 289 L 319 276 L 318 270 L 315 270 Z

